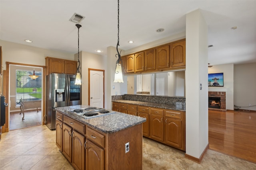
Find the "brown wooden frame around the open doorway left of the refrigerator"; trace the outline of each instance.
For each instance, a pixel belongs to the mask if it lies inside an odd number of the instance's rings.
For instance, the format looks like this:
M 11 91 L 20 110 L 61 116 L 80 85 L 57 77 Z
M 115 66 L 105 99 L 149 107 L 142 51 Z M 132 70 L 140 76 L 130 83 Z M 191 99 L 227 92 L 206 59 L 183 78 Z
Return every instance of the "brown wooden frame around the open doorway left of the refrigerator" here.
M 9 94 L 10 94 L 10 82 L 9 82 L 9 77 L 10 77 L 10 64 L 11 65 L 20 65 L 20 66 L 30 66 L 30 67 L 41 67 L 43 69 L 42 71 L 42 125 L 45 125 L 44 121 L 43 121 L 43 117 L 45 116 L 45 76 L 46 76 L 46 66 L 40 66 L 40 65 L 33 65 L 33 64 L 22 64 L 22 63 L 11 63 L 6 61 L 6 70 L 4 70 L 4 80 L 3 80 L 3 89 L 5 89 L 5 91 L 3 90 L 3 95 L 6 98 L 6 101 L 9 103 Z M 10 124 L 10 120 L 9 120 L 9 107 L 6 107 L 5 110 L 5 124 L 4 124 L 4 129 L 2 131 L 2 133 L 4 132 L 8 132 L 9 131 L 9 124 Z

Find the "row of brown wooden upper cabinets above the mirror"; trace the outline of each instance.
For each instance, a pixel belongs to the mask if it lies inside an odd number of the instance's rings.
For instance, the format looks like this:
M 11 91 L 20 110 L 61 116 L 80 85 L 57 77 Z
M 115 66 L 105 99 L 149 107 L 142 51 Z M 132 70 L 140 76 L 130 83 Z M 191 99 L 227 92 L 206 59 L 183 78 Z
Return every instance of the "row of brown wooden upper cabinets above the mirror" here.
M 124 73 L 135 74 L 186 68 L 186 39 L 122 56 Z

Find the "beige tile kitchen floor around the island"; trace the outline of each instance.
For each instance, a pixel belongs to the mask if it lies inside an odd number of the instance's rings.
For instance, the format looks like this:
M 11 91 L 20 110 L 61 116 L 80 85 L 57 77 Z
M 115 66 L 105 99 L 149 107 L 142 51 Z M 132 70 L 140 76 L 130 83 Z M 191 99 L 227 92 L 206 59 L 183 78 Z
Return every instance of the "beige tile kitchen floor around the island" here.
M 143 170 L 255 170 L 256 164 L 208 150 L 201 164 L 184 152 L 143 139 Z M 2 134 L 1 170 L 73 170 L 55 145 L 55 131 L 45 125 Z

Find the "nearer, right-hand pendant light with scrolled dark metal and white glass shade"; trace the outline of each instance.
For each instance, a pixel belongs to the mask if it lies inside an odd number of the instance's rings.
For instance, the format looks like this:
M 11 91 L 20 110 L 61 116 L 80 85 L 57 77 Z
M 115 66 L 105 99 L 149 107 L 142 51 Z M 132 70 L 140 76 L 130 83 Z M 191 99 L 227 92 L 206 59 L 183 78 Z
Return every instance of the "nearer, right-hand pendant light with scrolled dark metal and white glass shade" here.
M 118 2 L 118 16 L 117 16 L 117 21 L 118 21 L 118 25 L 117 25 L 117 28 L 118 28 L 118 33 L 117 33 L 117 45 L 116 45 L 116 51 L 117 51 L 117 54 L 116 54 L 116 57 L 118 57 L 117 61 L 116 61 L 116 70 L 115 70 L 115 79 L 114 79 L 114 82 L 119 82 L 119 83 L 123 83 L 123 74 L 122 74 L 122 60 L 121 60 L 121 51 L 119 53 L 118 51 L 118 46 L 119 46 L 119 0 L 117 1 Z

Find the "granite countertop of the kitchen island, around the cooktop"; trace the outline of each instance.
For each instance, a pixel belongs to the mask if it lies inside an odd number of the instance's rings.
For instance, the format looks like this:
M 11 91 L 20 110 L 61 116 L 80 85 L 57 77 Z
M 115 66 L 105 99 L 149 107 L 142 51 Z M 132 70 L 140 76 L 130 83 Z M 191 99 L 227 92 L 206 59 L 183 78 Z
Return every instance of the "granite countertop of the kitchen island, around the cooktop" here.
M 56 107 L 55 109 L 60 113 L 71 117 L 81 123 L 84 123 L 94 129 L 97 129 L 103 133 L 115 133 L 122 129 L 127 129 L 134 125 L 138 125 L 146 121 L 143 117 L 138 117 L 134 115 L 128 115 L 125 113 L 112 113 L 108 115 L 98 116 L 94 118 L 84 119 L 75 113 L 70 113 L 68 110 L 71 109 L 80 109 L 90 107 L 88 105 L 76 105 L 76 106 L 64 106 L 64 107 Z

